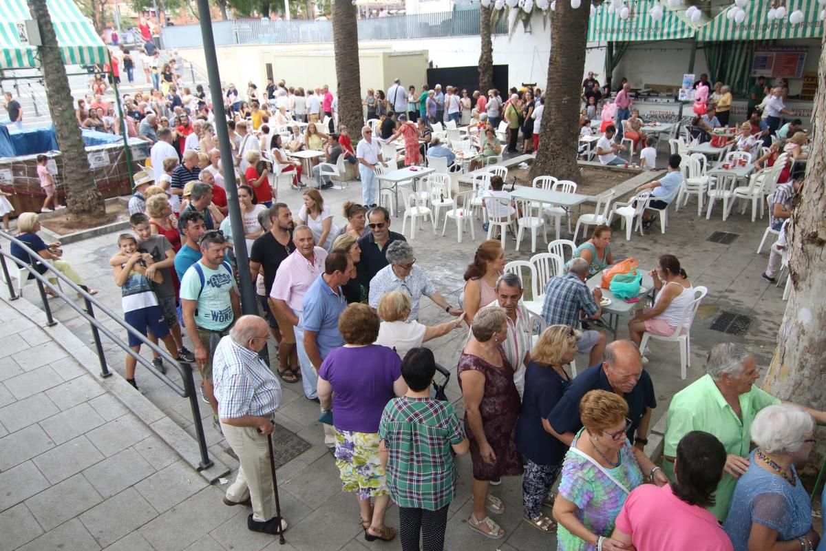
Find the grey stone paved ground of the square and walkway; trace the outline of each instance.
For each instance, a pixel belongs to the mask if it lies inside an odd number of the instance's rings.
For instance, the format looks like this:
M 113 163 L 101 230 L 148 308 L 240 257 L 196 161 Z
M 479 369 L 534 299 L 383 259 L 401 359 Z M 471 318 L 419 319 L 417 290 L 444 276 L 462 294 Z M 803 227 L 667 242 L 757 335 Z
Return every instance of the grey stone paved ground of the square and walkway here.
M 346 198 L 360 197 L 360 188 L 353 185 L 344 192 L 330 190 L 325 197 L 337 214 L 336 221 L 341 222 L 341 204 Z M 294 211 L 301 204 L 298 192 L 292 190 L 282 192 L 281 198 Z M 767 220 L 752 224 L 748 216 L 737 214 L 723 222 L 718 207 L 716 216 L 705 221 L 698 219 L 695 208 L 691 203 L 687 210 L 670 212 L 666 235 L 654 231 L 643 237 L 634 235 L 627 242 L 624 233 L 617 231 L 612 244 L 615 255 L 633 254 L 644 268 L 653 266 L 658 254 L 676 254 L 695 285 L 709 287 L 709 296 L 691 330 L 691 367 L 686 382 L 703 373 L 705 354 L 722 340 L 750 344 L 765 366 L 785 304 L 782 288 L 760 278 L 766 252 L 754 253 Z M 394 219 L 393 225 L 400 230 L 401 218 Z M 706 239 L 715 230 L 731 231 L 739 237 L 732 245 L 711 243 Z M 482 240 L 479 233 L 481 225 L 477 225 L 475 244 L 464 240 L 457 245 L 451 228 L 444 238 L 434 237 L 429 230 L 417 231 L 412 241 L 418 263 L 453 304 L 458 302 L 463 285 L 463 268 Z M 114 241 L 115 235 L 103 235 L 64 249 L 78 273 L 101 290 L 98 298 L 120 312 L 120 293 L 107 264 Z M 510 241 L 508 259 L 529 259 L 525 249 L 523 245 L 523 252 L 516 253 Z M 312 445 L 278 470 L 283 511 L 291 524 L 287 545 L 281 548 L 273 538 L 246 530 L 244 516 L 249 511 L 222 505 L 220 483 L 208 484 L 107 392 L 97 382 L 97 364 L 79 365 L 61 343 L 55 342 L 53 330 L 41 329 L 22 316 L 16 309 L 23 310 L 16 306 L 21 302 L 5 302 L 5 292 L 2 297 L 0 487 L 4 491 L 0 492 L 0 549 L 400 549 L 397 541 L 370 544 L 363 540 L 354 498 L 340 492 L 335 465 L 325 453 L 316 422 L 317 406 L 306 401 L 296 385 L 283 385 L 278 422 Z M 28 287 L 26 299 L 34 301 L 35 297 L 34 287 Z M 427 299 L 422 299 L 422 304 L 422 321 L 444 319 L 444 312 Z M 91 346 L 88 324 L 68 306 L 54 301 L 52 306 L 55 317 Z M 710 330 L 710 321 L 723 310 L 754 316 L 748 334 L 729 337 Z M 34 319 L 40 322 L 37 316 Z M 116 329 L 111 321 L 104 324 Z M 117 332 L 123 334 L 122 330 Z M 626 334 L 622 326 L 620 336 Z M 462 341 L 463 335 L 455 334 L 431 344 L 439 362 L 453 367 L 448 396 L 460 412 L 454 367 Z M 111 343 L 104 348 L 108 363 L 122 373 L 121 350 Z M 673 393 L 686 382 L 679 378 L 675 346 L 654 343 L 651 350 L 647 368 L 660 401 L 654 413 L 656 422 Z M 579 365 L 586 365 L 585 357 L 579 360 Z M 145 370 L 139 369 L 138 376 L 145 397 L 194 434 L 187 402 Z M 202 415 L 208 416 L 206 407 Z M 225 442 L 221 435 L 208 425 L 205 430 L 211 454 L 237 468 L 235 460 L 222 451 Z M 450 507 L 446 549 L 553 549 L 553 536 L 520 522 L 521 485 L 515 478 L 506 479 L 495 490 L 507 504 L 505 515 L 496 519 L 507 530 L 506 539 L 491 541 L 468 530 L 469 458 L 460 458 L 459 465 L 462 475 L 458 496 Z M 389 525 L 397 526 L 395 509 L 389 511 L 387 519 Z

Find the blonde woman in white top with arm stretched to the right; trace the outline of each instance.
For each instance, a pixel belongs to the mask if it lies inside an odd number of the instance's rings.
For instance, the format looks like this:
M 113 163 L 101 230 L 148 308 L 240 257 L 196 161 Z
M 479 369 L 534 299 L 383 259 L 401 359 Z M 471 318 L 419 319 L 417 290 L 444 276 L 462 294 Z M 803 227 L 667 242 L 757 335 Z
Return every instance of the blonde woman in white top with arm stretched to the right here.
M 411 297 L 401 291 L 386 292 L 378 299 L 378 316 L 382 325 L 378 329 L 376 344 L 396 350 L 399 358 L 404 359 L 408 350 L 421 346 L 430 339 L 447 335 L 454 329 L 462 327 L 465 314 L 456 320 L 445 321 L 438 325 L 423 325 L 407 317 L 411 315 Z

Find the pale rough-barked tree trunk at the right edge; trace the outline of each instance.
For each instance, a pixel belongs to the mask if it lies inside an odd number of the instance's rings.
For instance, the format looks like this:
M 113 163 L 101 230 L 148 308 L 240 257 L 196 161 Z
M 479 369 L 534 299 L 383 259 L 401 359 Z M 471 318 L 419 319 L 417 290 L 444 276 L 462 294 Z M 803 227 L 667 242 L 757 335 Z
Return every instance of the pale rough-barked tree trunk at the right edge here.
M 826 36 L 824 36 L 826 40 Z M 822 47 L 826 42 L 822 43 Z M 826 132 L 826 49 L 820 50 L 819 87 L 814 95 L 813 134 Z M 803 188 L 789 223 L 792 290 L 786 303 L 777 347 L 763 388 L 781 400 L 826 409 L 826 140 L 813 140 Z M 818 451 L 826 451 L 819 441 Z

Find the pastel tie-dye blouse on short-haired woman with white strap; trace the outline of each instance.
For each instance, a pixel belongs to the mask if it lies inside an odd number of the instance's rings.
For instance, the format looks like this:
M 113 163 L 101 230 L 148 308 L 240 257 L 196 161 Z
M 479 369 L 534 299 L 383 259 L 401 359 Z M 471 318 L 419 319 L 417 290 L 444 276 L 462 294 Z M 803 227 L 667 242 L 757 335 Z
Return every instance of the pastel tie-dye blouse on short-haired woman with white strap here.
M 571 447 L 577 445 L 582 429 L 577 433 Z M 619 450 L 619 467 L 607 469 L 612 477 L 621 482 L 628 491 L 643 483 L 643 472 L 631 444 L 625 440 Z M 622 510 L 628 494 L 606 477 L 599 468 L 568 450 L 563 463 L 563 474 L 559 482 L 559 495 L 577 506 L 576 515 L 582 524 L 594 534 L 610 536 L 614 522 Z M 557 531 L 558 551 L 593 551 L 594 546 L 571 534 L 563 525 Z

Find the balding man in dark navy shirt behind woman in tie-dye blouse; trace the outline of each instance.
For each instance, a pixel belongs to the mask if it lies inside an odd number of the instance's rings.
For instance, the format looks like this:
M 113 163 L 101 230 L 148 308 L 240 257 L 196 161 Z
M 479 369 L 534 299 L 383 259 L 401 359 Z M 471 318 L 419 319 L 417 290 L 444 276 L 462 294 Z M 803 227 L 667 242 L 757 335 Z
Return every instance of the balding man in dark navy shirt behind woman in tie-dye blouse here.
M 636 344 L 630 340 L 615 340 L 608 344 L 602 363 L 580 373 L 548 414 L 554 436 L 567 445 L 571 445 L 577 431 L 582 429 L 579 402 L 591 390 L 605 390 L 623 397 L 628 404 L 625 434 L 639 448 L 648 443 L 648 423 L 651 411 L 657 407 L 657 397 L 651 377 L 643 369 L 643 357 Z

